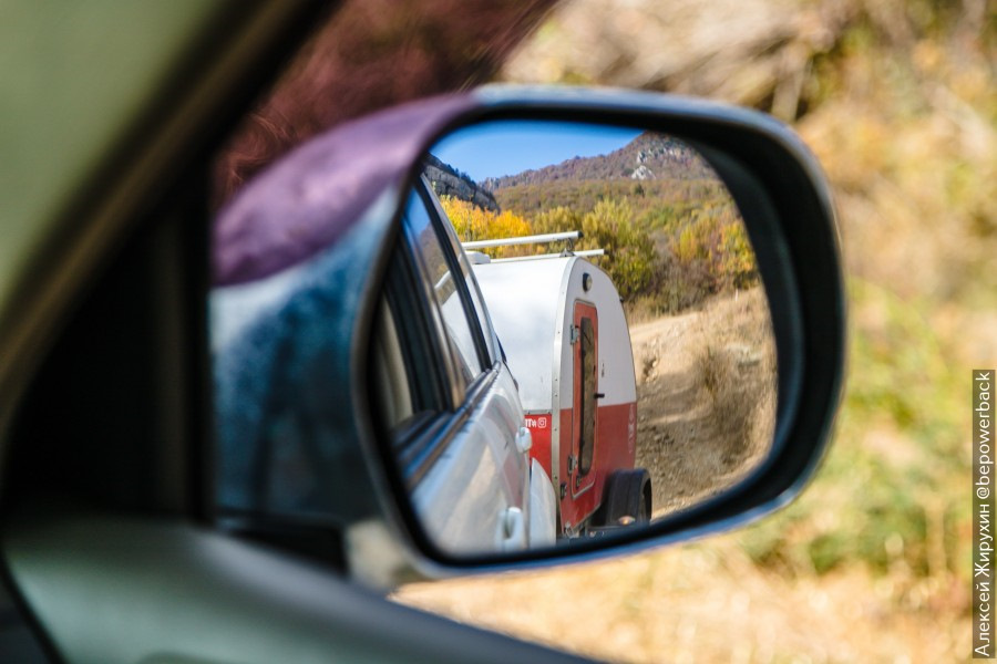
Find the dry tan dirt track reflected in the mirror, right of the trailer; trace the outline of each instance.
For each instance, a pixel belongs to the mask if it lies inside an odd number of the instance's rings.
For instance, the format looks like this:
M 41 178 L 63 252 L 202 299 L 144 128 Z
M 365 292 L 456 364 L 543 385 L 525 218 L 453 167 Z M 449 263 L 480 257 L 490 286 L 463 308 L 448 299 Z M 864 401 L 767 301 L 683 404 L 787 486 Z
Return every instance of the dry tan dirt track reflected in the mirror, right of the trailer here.
M 769 449 L 775 349 L 764 293 L 630 326 L 637 372 L 637 465 L 654 484 L 654 516 L 731 486 Z

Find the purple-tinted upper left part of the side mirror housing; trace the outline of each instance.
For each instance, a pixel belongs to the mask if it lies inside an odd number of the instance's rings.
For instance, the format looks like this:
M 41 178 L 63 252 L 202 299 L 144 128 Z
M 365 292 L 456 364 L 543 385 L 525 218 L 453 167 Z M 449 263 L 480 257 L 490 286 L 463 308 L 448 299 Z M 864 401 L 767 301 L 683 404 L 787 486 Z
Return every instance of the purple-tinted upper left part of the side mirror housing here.
M 336 242 L 405 176 L 432 134 L 473 105 L 462 94 L 381 111 L 320 134 L 276 162 L 215 221 L 215 284 L 261 279 Z

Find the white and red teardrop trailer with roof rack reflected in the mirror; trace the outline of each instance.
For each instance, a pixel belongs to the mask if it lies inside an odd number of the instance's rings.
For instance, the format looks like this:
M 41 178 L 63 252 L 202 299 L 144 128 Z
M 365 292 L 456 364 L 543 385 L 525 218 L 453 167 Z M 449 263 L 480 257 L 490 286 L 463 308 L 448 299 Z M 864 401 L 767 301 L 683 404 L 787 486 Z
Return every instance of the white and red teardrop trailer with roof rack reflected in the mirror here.
M 646 521 L 648 471 L 635 468 L 637 387 L 627 321 L 602 250 L 490 259 L 476 249 L 574 239 L 553 234 L 464 242 L 551 477 L 558 536 Z

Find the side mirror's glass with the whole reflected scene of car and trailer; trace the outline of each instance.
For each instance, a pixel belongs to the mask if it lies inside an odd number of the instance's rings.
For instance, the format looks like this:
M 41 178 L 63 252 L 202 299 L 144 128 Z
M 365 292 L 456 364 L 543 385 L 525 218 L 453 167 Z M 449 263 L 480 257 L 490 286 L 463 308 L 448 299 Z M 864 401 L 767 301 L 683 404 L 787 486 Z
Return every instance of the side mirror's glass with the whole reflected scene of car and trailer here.
M 765 458 L 769 307 L 738 208 L 693 147 L 493 121 L 429 152 L 372 372 L 438 548 L 610 536 Z

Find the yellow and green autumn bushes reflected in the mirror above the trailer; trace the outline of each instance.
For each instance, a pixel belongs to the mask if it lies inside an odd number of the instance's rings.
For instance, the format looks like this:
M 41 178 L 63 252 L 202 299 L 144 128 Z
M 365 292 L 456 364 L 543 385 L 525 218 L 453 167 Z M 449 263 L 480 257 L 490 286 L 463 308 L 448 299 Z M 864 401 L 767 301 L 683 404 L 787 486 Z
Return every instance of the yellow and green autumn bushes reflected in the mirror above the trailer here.
M 604 249 L 606 256 L 592 260 L 630 309 L 677 312 L 759 280 L 744 226 L 716 179 L 517 185 L 496 197 L 502 212 L 441 197 L 461 240 L 580 230 L 579 240 L 564 245 L 498 247 L 486 253 L 511 258 Z

